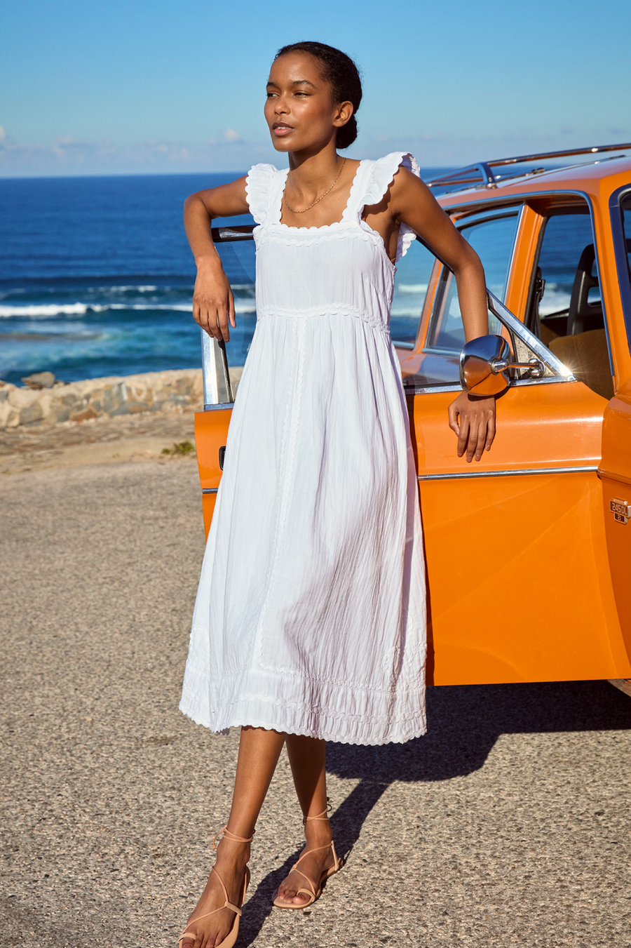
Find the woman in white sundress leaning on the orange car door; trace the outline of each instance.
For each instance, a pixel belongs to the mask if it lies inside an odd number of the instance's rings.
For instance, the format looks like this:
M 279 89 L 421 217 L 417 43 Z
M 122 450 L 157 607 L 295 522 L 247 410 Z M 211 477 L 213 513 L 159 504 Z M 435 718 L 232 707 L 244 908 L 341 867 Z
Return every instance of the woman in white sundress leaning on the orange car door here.
M 401 372 L 388 334 L 396 260 L 413 231 L 449 264 L 467 338 L 488 332 L 484 272 L 411 155 L 342 158 L 361 82 L 319 43 L 279 50 L 265 118 L 289 170 L 191 195 L 193 313 L 227 339 L 234 302 L 213 217 L 257 224 L 257 328 L 243 368 L 207 541 L 182 710 L 241 725 L 232 808 L 180 944 L 229 948 L 246 863 L 283 744 L 306 846 L 274 902 L 315 901 L 340 863 L 327 816 L 325 739 L 379 744 L 425 732 L 424 558 Z M 450 408 L 459 454 L 491 447 L 495 402 Z M 219 834 L 218 834 L 219 835 Z

